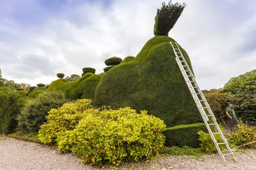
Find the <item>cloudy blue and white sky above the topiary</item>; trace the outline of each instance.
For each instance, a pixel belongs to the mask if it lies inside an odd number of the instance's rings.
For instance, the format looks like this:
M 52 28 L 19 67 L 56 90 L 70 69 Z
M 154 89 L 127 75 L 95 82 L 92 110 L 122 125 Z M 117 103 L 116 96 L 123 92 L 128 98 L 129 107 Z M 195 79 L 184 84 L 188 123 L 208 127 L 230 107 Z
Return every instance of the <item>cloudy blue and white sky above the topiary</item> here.
M 105 59 L 135 56 L 154 37 L 163 0 L 0 0 L 0 69 L 16 83 L 57 73 L 100 74 Z M 167 0 L 165 2 L 168 2 Z M 173 1 L 176 2 L 176 1 Z M 201 90 L 256 69 L 255 0 L 183 0 L 169 37 L 189 54 Z

